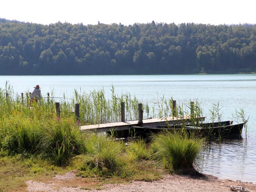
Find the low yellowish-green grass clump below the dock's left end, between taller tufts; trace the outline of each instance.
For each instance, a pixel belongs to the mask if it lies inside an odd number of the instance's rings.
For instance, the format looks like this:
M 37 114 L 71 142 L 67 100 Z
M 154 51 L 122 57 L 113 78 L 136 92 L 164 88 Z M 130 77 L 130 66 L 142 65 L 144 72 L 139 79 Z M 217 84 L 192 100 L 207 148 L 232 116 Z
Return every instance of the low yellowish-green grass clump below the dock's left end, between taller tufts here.
M 124 162 L 121 155 L 125 145 L 102 135 L 88 135 L 84 144 L 84 153 L 76 157 L 79 169 L 85 174 L 95 173 L 100 176 L 118 175 Z

